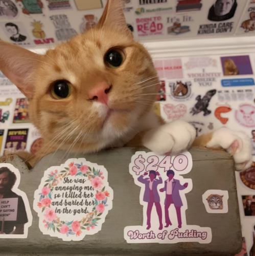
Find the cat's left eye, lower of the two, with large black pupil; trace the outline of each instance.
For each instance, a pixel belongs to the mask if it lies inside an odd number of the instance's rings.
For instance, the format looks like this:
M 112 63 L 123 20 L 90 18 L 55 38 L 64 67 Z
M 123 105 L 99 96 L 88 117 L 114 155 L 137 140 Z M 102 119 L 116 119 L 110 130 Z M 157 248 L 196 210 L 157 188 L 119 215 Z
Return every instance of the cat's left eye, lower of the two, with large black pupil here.
M 59 80 L 52 84 L 51 95 L 55 99 L 65 99 L 71 95 L 71 83 L 65 80 Z

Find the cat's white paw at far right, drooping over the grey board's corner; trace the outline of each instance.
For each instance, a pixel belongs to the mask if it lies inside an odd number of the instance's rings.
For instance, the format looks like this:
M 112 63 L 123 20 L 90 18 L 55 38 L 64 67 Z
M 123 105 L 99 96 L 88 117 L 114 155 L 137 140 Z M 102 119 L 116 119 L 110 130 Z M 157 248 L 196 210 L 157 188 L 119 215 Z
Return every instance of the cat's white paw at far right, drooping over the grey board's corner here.
M 236 170 L 247 169 L 252 164 L 251 142 L 243 132 L 235 132 L 222 127 L 213 133 L 211 141 L 206 146 L 220 146 L 233 155 Z

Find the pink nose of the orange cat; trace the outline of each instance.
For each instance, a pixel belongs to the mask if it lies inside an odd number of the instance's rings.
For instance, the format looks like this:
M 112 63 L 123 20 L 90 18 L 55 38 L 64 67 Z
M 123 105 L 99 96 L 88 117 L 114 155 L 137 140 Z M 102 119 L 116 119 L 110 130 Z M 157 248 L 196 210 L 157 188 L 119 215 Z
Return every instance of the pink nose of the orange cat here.
M 107 105 L 109 91 L 109 84 L 107 82 L 100 82 L 88 92 L 88 97 L 91 100 L 95 100 Z

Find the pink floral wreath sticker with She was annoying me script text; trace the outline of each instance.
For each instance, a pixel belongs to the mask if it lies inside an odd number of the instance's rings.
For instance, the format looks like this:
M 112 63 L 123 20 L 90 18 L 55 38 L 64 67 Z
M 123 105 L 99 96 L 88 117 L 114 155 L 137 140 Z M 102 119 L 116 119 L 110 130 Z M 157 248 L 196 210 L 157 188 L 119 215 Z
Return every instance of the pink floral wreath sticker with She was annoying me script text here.
M 64 241 L 80 241 L 99 232 L 112 208 L 113 190 L 107 178 L 104 166 L 84 158 L 45 170 L 33 205 L 41 232 Z

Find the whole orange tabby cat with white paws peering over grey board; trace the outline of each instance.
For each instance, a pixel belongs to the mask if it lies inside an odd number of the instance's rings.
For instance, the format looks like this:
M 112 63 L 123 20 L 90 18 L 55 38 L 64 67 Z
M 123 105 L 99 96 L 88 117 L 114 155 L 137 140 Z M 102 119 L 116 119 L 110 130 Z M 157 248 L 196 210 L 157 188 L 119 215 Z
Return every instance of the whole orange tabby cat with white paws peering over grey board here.
M 30 119 L 43 136 L 32 164 L 59 149 L 88 153 L 144 145 L 164 155 L 192 143 L 225 148 L 237 169 L 251 164 L 244 133 L 222 128 L 195 140 L 191 124 L 164 124 L 153 113 L 159 79 L 149 53 L 127 28 L 120 0 L 108 1 L 96 28 L 45 55 L 0 41 L 0 69 L 30 99 Z

